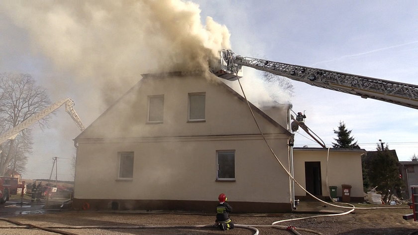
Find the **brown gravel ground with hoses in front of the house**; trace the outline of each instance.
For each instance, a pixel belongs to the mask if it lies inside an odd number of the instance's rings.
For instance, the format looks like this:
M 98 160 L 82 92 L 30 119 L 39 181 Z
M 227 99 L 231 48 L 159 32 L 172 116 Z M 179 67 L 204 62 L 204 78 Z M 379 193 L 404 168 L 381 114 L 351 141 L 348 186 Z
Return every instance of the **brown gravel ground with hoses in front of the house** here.
M 313 234 L 301 230 L 311 229 L 324 235 L 408 235 L 418 230 L 418 222 L 403 220 L 402 215 L 410 209 L 356 210 L 344 216 L 320 217 L 285 222 L 282 226 L 295 226 L 303 235 Z M 235 224 L 271 225 L 275 221 L 314 216 L 317 214 L 231 215 Z M 23 224 L 36 226 L 194 226 L 212 225 L 214 215 L 157 213 L 157 212 L 86 212 L 64 211 L 43 215 L 26 215 L 7 218 Z M 7 235 L 53 235 L 56 233 L 38 229 L 5 229 L 14 226 L 0 221 L 0 234 Z M 301 228 L 301 229 L 300 229 Z M 289 235 L 289 231 L 273 228 L 258 228 L 260 235 Z M 59 229 L 76 235 L 252 235 L 253 231 L 236 228 L 220 231 L 204 229 Z

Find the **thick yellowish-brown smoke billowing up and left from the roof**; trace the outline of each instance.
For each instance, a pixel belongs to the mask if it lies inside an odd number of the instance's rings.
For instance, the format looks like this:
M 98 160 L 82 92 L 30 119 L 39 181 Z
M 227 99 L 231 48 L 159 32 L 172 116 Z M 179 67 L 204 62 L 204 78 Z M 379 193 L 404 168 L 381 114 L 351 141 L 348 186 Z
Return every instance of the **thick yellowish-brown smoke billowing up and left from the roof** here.
M 228 29 L 182 0 L 2 1 L 35 53 L 114 101 L 142 73 L 206 70 Z M 51 81 L 53 82 L 53 81 Z M 59 88 L 58 88 L 59 89 Z M 108 104 L 107 104 L 108 105 Z

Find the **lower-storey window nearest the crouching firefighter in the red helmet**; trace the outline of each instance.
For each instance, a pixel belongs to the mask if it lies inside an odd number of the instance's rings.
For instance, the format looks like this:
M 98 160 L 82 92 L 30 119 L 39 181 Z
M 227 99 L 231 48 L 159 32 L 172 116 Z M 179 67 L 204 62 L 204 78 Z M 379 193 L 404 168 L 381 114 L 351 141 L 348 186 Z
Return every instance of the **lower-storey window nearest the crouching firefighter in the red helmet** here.
M 217 180 L 235 180 L 235 151 L 216 151 Z

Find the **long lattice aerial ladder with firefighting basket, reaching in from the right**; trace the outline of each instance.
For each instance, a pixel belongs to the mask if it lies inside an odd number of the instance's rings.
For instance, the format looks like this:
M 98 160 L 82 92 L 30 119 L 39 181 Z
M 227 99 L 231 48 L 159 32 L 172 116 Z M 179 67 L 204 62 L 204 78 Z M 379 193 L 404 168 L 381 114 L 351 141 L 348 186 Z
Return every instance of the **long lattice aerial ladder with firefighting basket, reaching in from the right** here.
M 213 73 L 226 80 L 234 81 L 241 78 L 242 66 L 246 66 L 304 82 L 315 87 L 418 109 L 417 85 L 242 57 L 230 50 L 221 50 L 220 57 L 220 66 L 215 68 Z

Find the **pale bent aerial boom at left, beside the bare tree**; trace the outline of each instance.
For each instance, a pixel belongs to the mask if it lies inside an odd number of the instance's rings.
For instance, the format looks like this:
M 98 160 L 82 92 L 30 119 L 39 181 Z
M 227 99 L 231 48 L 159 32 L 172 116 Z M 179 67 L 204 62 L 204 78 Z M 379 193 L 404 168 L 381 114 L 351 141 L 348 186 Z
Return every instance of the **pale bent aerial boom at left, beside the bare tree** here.
M 33 123 L 39 121 L 43 117 L 48 116 L 61 106 L 65 105 L 65 111 L 73 118 L 74 122 L 76 122 L 77 126 L 81 131 L 86 129 L 81 122 L 80 117 L 77 115 L 76 111 L 74 110 L 74 101 L 70 98 L 58 101 L 49 107 L 45 108 L 44 110 L 40 111 L 39 113 L 36 113 L 35 115 L 27 118 L 26 120 L 22 121 L 20 124 L 16 125 L 15 127 L 9 129 L 8 131 L 4 132 L 0 135 L 0 144 L 2 144 L 7 139 L 14 139 L 17 134 L 19 134 L 20 131 L 24 130 L 25 128 L 29 127 Z M 1 153 L 1 149 L 0 149 Z

